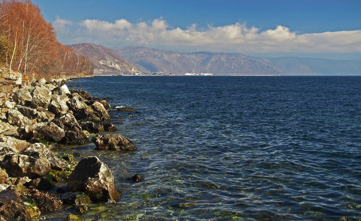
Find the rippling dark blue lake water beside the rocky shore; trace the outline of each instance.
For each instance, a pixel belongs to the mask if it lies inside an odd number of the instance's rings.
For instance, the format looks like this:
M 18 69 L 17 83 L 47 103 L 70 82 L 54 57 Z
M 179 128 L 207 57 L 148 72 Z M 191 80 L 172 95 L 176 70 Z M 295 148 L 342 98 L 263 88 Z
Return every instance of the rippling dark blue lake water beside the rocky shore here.
M 136 151 L 69 149 L 98 156 L 123 193 L 86 220 L 361 219 L 359 76 L 104 76 L 68 85 L 136 109 L 109 111 Z M 136 173 L 144 181 L 127 179 Z

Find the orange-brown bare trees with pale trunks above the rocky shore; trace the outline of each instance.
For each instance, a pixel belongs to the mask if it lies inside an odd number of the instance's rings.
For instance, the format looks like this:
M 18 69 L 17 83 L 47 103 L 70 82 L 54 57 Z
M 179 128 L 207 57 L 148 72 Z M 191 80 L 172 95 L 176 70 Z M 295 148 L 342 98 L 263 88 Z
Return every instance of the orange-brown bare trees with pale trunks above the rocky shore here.
M 30 0 L 0 0 L 0 67 L 23 76 L 92 75 L 93 64 L 60 44 Z

